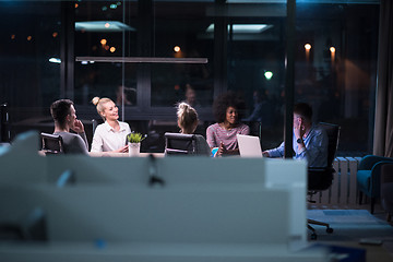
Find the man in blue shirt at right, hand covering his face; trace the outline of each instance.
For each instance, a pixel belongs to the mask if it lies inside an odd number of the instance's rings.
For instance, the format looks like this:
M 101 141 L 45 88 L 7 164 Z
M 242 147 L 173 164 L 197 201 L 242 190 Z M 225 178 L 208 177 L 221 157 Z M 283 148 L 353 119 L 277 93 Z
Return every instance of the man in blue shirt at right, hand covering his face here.
M 327 166 L 327 134 L 312 123 L 312 108 L 306 103 L 294 107 L 294 139 L 293 148 L 295 159 L 307 159 L 309 167 Z M 266 157 L 283 157 L 284 142 L 276 148 L 262 152 Z

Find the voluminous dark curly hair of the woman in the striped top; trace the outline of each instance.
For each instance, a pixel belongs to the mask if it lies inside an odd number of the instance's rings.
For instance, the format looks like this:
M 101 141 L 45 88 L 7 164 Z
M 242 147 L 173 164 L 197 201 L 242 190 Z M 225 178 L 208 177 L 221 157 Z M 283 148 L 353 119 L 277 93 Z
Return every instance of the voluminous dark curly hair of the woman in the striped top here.
M 246 104 L 245 100 L 241 99 L 238 95 L 236 95 L 234 92 L 229 91 L 227 93 L 222 94 L 218 96 L 213 104 L 213 112 L 217 120 L 217 122 L 224 122 L 226 118 L 226 110 L 228 107 L 236 108 L 238 112 L 238 119 L 242 118 Z

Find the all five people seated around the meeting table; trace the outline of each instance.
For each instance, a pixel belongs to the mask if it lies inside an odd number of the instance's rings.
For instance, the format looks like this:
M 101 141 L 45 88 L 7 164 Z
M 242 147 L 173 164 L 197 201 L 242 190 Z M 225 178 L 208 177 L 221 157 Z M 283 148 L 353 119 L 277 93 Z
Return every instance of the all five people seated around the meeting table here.
M 109 98 L 94 97 L 93 104 L 104 119 L 93 135 L 92 152 L 127 153 L 127 134 L 130 126 L 119 121 L 118 107 Z M 250 128 L 240 122 L 243 102 L 235 93 L 228 92 L 215 99 L 213 110 L 217 122 L 206 129 L 206 140 L 195 135 L 196 154 L 226 156 L 238 155 L 237 134 L 250 133 Z M 50 106 L 55 120 L 55 132 L 63 140 L 67 154 L 88 154 L 88 144 L 83 123 L 78 120 L 75 108 L 70 99 L 60 99 Z M 199 118 L 196 110 L 187 103 L 177 105 L 177 118 L 180 133 L 194 133 Z M 327 135 L 323 129 L 312 123 L 312 109 L 308 104 L 299 103 L 294 108 L 294 158 L 307 159 L 310 167 L 325 167 L 327 159 Z M 70 130 L 74 131 L 71 133 Z M 262 152 L 265 157 L 283 157 L 284 142 L 276 148 Z

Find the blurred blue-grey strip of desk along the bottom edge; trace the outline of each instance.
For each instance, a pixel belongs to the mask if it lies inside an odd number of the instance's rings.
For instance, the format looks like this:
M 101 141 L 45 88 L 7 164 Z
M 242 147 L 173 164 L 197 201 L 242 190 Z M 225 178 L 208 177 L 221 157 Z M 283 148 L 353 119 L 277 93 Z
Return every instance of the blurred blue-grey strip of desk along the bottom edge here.
M 326 257 L 323 250 L 290 252 L 274 245 L 0 245 L 0 259 L 7 262 L 326 262 Z

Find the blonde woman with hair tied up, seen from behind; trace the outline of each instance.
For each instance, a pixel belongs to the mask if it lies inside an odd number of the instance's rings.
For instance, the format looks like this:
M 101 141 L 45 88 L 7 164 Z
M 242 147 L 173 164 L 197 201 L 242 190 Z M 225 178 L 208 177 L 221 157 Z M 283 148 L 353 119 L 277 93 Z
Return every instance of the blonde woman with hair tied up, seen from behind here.
M 198 127 L 198 114 L 196 110 L 187 103 L 180 103 L 177 107 L 178 127 L 183 134 L 192 134 Z M 196 154 L 211 155 L 211 148 L 207 145 L 206 140 L 195 134 L 196 138 Z

